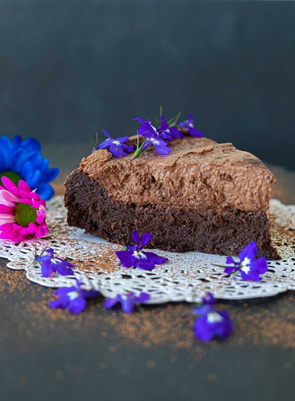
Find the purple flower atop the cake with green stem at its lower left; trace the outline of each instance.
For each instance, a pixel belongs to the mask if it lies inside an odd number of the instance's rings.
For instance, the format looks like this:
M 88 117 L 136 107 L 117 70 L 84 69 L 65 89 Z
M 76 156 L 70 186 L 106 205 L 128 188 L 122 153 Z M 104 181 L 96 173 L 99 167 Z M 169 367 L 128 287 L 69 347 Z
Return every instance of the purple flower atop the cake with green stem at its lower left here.
M 133 121 L 139 121 L 141 126 L 138 130 L 138 134 L 145 137 L 145 140 L 141 144 L 141 146 L 136 149 L 134 156 L 139 156 L 141 152 L 147 150 L 151 146 L 155 148 L 156 153 L 159 155 L 168 155 L 171 149 L 167 146 L 167 142 L 160 138 L 159 133 L 151 125 L 151 122 L 148 120 L 143 120 L 140 117 L 133 118 Z

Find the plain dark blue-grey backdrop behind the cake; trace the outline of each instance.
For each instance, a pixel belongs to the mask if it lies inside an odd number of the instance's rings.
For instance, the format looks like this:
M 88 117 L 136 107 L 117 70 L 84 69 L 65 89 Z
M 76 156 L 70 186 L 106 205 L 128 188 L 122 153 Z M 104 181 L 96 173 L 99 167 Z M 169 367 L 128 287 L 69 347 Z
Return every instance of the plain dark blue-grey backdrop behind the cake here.
M 86 149 L 162 104 L 294 169 L 294 21 L 281 1 L 0 1 L 1 134 Z

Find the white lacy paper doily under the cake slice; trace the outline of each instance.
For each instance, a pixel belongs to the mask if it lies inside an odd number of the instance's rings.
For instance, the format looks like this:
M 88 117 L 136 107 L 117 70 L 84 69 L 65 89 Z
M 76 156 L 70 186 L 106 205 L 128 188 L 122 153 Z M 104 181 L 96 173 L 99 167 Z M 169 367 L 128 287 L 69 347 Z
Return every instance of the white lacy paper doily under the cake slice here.
M 18 245 L 0 240 L 0 257 L 9 260 L 7 267 L 26 270 L 27 278 L 46 287 L 71 286 L 78 278 L 87 289 L 94 288 L 104 296 L 115 297 L 126 292 L 141 291 L 151 295 L 148 303 L 168 301 L 199 301 L 206 292 L 216 298 L 246 299 L 271 296 L 287 290 L 295 290 L 295 206 L 285 206 L 272 200 L 270 213 L 274 219 L 273 242 L 282 257 L 280 261 L 268 261 L 268 271 L 260 282 L 245 281 L 239 274 L 225 277 L 225 256 L 200 252 L 172 253 L 157 250 L 169 261 L 151 271 L 124 268 L 118 262 L 115 251 L 121 245 L 109 243 L 84 230 L 69 227 L 62 196 L 47 203 L 46 221 L 50 237 L 45 240 L 26 241 Z M 75 265 L 72 276 L 42 277 L 39 266 L 33 264 L 37 246 L 54 248 L 56 254 L 68 258 Z

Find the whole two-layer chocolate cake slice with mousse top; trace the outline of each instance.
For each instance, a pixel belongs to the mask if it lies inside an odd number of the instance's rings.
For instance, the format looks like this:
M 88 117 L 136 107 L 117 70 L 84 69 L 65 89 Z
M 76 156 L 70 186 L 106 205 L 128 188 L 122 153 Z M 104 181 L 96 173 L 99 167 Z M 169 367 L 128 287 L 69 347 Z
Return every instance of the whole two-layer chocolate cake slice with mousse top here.
M 238 254 L 250 241 L 277 259 L 269 236 L 274 175 L 231 143 L 185 136 L 168 155 L 115 158 L 97 150 L 65 183 L 68 224 L 121 242 L 125 222 L 152 235 L 150 247 Z

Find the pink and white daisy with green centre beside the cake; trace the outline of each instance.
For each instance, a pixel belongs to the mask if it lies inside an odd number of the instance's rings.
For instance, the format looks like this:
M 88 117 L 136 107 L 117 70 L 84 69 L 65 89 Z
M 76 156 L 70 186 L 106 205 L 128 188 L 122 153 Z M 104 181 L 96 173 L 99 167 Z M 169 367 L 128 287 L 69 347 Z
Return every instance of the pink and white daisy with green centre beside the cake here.
M 0 186 L 0 238 L 13 242 L 46 237 L 46 202 L 24 180 L 18 186 L 2 177 Z

